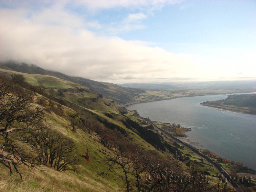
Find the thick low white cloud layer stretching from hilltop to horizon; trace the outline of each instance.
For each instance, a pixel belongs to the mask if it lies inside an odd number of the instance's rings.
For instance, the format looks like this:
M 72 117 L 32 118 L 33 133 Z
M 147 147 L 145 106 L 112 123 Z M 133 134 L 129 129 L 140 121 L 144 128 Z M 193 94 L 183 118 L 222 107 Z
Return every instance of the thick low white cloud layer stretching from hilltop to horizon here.
M 109 1 L 96 1 L 96 4 L 92 4 L 92 1 L 76 2 L 96 9 L 102 8 Z M 128 4 L 132 6 L 137 2 L 141 5 L 149 4 L 148 2 L 159 3 L 153 0 L 111 2 L 112 4 L 106 5 L 105 8 Z M 123 5 L 119 5 L 120 3 Z M 131 14 L 124 22 L 140 25 L 138 21 L 146 17 L 143 13 Z M 1 8 L 0 23 L 2 61 L 12 59 L 32 63 L 71 76 L 119 83 L 210 80 L 222 77 L 232 79 L 244 74 L 253 77 L 255 74 L 252 70 L 256 71 L 255 67 L 240 71 L 239 65 L 233 63 L 239 62 L 239 59 L 227 61 L 224 66 L 222 63 L 225 61 L 221 58 L 204 58 L 186 53 L 175 55 L 148 42 L 97 35 L 87 27 L 91 25 L 101 28 L 101 25 L 97 22 L 87 22 L 57 5 L 44 7 L 39 11 L 24 7 Z M 255 59 L 255 56 L 252 56 L 255 52 L 248 54 L 251 54 L 248 60 L 250 63 L 253 61 L 252 57 Z M 219 63 L 214 64 L 215 62 Z M 209 65 L 212 67 L 209 68 Z

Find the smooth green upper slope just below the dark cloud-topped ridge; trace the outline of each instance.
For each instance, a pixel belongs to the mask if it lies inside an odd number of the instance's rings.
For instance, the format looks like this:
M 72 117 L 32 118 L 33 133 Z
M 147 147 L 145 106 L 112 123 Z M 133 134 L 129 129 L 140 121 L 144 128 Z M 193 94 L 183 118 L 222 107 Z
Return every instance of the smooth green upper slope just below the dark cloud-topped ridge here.
M 49 95 L 62 101 L 69 101 L 70 103 L 92 110 L 117 113 L 126 111 L 125 108 L 118 105 L 116 102 L 103 97 L 101 94 L 79 83 L 49 75 L 20 73 L 6 69 L 0 69 L 0 72 L 9 75 L 14 73 L 22 74 L 28 83 L 35 86 L 43 86 Z

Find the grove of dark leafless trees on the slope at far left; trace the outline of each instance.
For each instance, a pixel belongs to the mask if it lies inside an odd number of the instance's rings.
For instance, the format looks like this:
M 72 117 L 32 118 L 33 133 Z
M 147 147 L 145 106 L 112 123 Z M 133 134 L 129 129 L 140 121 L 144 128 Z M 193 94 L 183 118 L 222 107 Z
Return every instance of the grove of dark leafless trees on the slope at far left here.
M 45 125 L 45 108 L 35 105 L 35 92 L 24 87 L 28 86 L 20 74 L 12 74 L 12 79 L 0 76 L 0 163 L 21 178 L 21 164 L 29 169 L 40 164 L 70 169 L 77 163 L 75 144 Z

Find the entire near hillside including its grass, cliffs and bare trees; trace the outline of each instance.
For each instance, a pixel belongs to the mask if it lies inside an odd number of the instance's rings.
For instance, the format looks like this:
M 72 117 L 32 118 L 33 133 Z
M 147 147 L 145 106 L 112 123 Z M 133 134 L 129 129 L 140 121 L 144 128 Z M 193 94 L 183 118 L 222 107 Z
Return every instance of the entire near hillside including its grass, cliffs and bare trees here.
M 7 69 L 1 73 L 1 191 L 215 191 L 219 176 L 213 165 L 136 112 L 79 83 Z M 166 124 L 158 126 L 164 130 Z M 253 173 L 214 158 L 231 174 Z M 204 171 L 211 175 L 202 176 Z M 197 186 L 163 184 L 153 173 L 162 179 L 192 176 Z

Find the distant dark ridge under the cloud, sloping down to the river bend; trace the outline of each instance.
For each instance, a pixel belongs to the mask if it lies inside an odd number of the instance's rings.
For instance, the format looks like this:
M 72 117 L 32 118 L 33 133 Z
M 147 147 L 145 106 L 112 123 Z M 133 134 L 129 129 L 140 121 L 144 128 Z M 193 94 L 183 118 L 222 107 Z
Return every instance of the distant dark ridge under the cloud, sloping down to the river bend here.
M 20 64 L 14 61 L 8 61 L 1 64 L 0 68 L 29 74 L 50 75 L 59 79 L 79 83 L 122 105 L 135 102 L 134 97 L 139 96 L 140 93 L 146 92 L 140 89 L 125 88 L 113 83 L 98 82 L 81 77 L 70 77 L 60 72 L 45 70 L 33 64 L 28 65 L 26 63 Z

